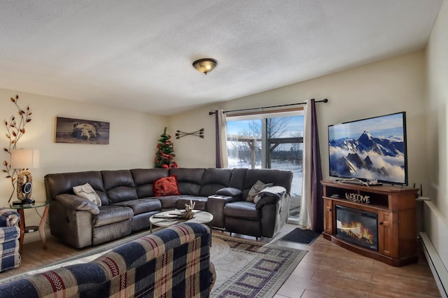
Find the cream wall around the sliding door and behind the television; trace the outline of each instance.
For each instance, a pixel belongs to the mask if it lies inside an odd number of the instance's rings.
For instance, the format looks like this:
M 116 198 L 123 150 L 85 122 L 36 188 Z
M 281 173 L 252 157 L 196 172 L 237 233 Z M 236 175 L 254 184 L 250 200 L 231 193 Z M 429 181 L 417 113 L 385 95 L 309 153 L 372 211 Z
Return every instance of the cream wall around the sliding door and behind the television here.
M 204 127 L 206 132 L 204 139 L 186 136 L 174 140 L 176 161 L 180 166 L 215 166 L 215 121 L 209 111 L 292 104 L 311 98 L 329 99 L 328 104 L 317 106 L 324 178 L 328 178 L 328 125 L 406 111 L 409 184 L 428 189 L 428 167 L 422 158 L 426 156 L 422 141 L 426 134 L 423 51 L 175 115 L 169 118 L 169 127 L 186 132 Z

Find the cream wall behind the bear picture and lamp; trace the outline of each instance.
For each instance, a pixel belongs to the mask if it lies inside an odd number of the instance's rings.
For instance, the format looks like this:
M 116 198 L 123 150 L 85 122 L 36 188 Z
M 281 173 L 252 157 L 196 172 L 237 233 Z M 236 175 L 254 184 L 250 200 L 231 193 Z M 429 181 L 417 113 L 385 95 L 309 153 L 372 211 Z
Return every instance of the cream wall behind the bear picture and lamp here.
M 41 159 L 38 169 L 31 169 L 33 175 L 33 197 L 45 201 L 43 176 L 47 173 L 70 171 L 151 168 L 156 146 L 167 119 L 135 111 L 86 104 L 20 91 L 0 89 L 0 118 L 9 121 L 10 115 L 17 115 L 17 108 L 10 97 L 18 94 L 19 106 L 30 106 L 33 114 L 26 125 L 26 133 L 18 142 L 18 148 L 36 148 Z M 109 145 L 82 145 L 55 143 L 55 119 L 57 116 L 110 122 Z M 6 127 L 0 128 L 1 148 L 8 146 Z M 9 160 L 1 150 L 0 160 Z M 3 167 L 2 167 L 3 169 Z M 6 176 L 6 174 L 4 174 Z M 12 192 L 10 180 L 0 177 L 0 206 L 7 206 Z M 17 197 L 13 195 L 15 200 Z M 38 211 L 42 213 L 43 208 Z M 40 218 L 34 209 L 25 211 L 27 225 L 38 225 Z M 49 233 L 48 233 L 49 234 Z M 38 240 L 38 233 L 25 236 L 25 242 Z

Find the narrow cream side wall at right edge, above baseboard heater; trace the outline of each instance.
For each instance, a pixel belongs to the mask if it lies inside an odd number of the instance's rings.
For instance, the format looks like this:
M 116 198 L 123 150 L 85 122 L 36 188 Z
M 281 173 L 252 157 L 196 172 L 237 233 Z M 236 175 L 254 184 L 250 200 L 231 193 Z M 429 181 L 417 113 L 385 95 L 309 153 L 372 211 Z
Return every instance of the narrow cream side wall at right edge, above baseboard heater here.
M 425 229 L 448 268 L 448 2 L 444 1 L 426 49 L 428 129 L 426 134 L 430 204 Z

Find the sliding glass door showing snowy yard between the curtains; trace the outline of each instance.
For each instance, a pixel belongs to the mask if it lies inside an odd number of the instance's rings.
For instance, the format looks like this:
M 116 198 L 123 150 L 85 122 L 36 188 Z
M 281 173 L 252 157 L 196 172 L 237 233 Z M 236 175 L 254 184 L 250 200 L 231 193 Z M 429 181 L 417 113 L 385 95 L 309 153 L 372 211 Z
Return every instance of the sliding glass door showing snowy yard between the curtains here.
M 229 168 L 293 171 L 290 218 L 300 213 L 303 113 L 228 116 Z

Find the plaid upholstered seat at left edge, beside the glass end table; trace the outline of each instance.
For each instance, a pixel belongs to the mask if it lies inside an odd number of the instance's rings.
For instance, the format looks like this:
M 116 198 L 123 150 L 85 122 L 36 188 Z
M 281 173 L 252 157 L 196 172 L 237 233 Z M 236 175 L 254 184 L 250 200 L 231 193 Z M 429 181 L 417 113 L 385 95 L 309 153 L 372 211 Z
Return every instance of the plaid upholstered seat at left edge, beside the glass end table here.
M 0 208 L 0 271 L 20 265 L 18 222 L 19 213 Z

